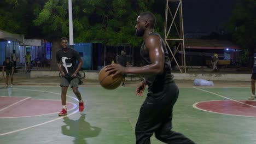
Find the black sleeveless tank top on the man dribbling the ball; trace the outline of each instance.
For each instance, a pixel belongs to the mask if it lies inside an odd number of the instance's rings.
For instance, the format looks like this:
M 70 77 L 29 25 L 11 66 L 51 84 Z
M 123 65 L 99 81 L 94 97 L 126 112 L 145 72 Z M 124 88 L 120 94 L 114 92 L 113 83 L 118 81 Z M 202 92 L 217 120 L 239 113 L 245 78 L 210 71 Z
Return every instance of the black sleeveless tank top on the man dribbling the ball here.
M 146 83 L 148 85 L 148 91 L 157 93 L 161 92 L 162 88 L 166 83 L 174 82 L 173 75 L 171 74 L 171 63 L 170 59 L 168 57 L 168 51 L 166 49 L 164 40 L 161 38 L 161 36 L 158 33 L 151 33 L 149 35 L 158 35 L 158 37 L 161 39 L 162 48 L 165 53 L 165 64 L 164 64 L 164 71 L 162 74 L 158 75 L 145 75 Z M 141 58 L 143 65 L 149 65 L 151 64 L 149 59 L 149 53 L 148 51 L 144 50 L 145 41 L 143 41 L 143 44 L 141 46 Z

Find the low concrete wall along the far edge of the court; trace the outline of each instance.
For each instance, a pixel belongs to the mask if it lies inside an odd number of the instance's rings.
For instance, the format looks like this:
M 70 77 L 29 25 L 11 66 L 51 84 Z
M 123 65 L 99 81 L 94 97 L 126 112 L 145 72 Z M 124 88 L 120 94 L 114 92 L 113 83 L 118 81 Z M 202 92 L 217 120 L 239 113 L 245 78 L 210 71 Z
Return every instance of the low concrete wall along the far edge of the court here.
M 98 80 L 98 72 L 85 72 L 85 79 Z M 175 80 L 205 79 L 209 81 L 251 81 L 251 74 L 181 74 L 173 73 Z M 31 71 L 31 77 L 59 76 L 59 71 Z M 130 79 L 128 79 L 130 80 Z

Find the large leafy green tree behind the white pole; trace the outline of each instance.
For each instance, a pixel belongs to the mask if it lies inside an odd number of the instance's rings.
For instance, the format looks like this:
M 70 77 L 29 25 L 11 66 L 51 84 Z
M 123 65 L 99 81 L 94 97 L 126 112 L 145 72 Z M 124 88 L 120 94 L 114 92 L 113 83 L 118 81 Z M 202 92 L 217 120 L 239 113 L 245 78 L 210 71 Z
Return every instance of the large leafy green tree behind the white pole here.
M 139 13 L 150 10 L 154 3 L 154 0 L 72 1 L 74 41 L 90 43 L 102 40 L 106 44 L 138 46 L 141 39 L 135 37 L 136 18 Z M 162 17 L 159 14 L 156 17 L 163 29 Z M 59 39 L 68 37 L 68 1 L 46 2 L 40 13 L 37 13 L 34 24 L 42 27 L 45 38 L 53 42 L 55 64 Z

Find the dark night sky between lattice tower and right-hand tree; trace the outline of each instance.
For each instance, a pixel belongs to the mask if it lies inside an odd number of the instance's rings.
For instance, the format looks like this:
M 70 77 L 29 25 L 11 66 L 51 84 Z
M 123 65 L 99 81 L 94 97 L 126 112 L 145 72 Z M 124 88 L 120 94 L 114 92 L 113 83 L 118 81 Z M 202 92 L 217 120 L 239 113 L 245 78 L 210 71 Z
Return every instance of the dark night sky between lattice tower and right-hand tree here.
M 227 22 L 237 0 L 183 0 L 183 23 L 186 32 L 212 32 Z

